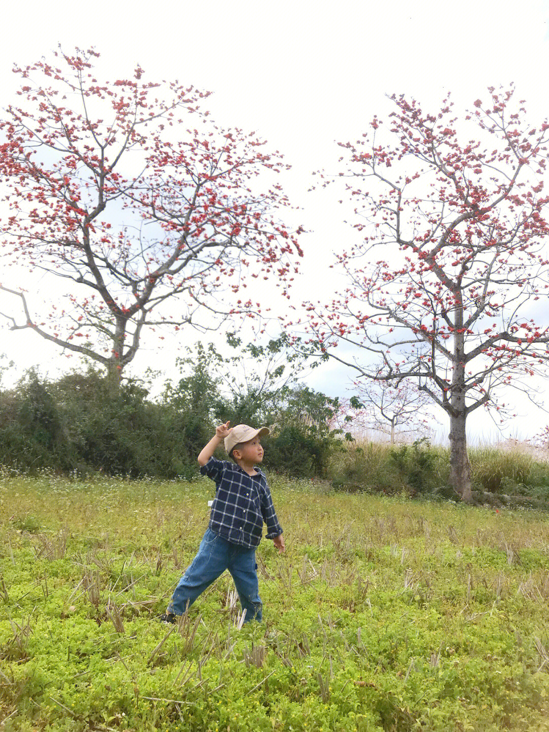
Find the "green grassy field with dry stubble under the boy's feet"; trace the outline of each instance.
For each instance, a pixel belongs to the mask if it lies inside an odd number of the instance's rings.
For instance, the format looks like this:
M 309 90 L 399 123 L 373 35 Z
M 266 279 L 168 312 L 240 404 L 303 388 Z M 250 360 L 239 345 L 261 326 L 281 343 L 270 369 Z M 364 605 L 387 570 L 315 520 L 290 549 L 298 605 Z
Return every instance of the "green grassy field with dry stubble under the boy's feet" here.
M 273 476 L 287 551 L 262 624 L 222 575 L 154 617 L 212 484 L 0 487 L 0 712 L 11 730 L 549 730 L 549 516 Z

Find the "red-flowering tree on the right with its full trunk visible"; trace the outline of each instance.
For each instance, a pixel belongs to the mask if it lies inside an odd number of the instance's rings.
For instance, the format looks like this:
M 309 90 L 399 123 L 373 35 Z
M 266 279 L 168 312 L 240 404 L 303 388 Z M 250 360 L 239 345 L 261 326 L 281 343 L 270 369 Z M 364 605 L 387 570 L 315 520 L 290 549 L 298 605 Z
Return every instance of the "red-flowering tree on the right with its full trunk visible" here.
M 374 118 L 340 143 L 363 238 L 337 255 L 347 288 L 309 303 L 308 322 L 322 354 L 376 381 L 414 379 L 446 412 L 450 481 L 471 501 L 467 418 L 481 406 L 501 414 L 499 387 L 528 393 L 549 357 L 549 124 L 529 124 L 512 88 L 489 89 L 460 119 L 448 99 L 435 114 L 392 99 L 392 142 Z

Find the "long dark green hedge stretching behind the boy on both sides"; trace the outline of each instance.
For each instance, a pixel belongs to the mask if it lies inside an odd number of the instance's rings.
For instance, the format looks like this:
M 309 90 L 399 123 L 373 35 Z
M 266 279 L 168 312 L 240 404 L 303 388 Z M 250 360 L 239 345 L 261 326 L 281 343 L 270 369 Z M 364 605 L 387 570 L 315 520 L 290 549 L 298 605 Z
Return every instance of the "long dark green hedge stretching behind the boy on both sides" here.
M 137 384 L 112 389 L 94 370 L 57 381 L 31 371 L 15 389 L 0 392 L 0 463 L 31 472 L 191 478 L 215 424 L 233 410 L 200 364 L 178 384 L 168 383 L 156 401 Z M 265 415 L 241 417 L 259 424 Z M 324 475 L 337 444 L 327 429 L 286 416 L 269 438 L 265 465 L 296 477 Z

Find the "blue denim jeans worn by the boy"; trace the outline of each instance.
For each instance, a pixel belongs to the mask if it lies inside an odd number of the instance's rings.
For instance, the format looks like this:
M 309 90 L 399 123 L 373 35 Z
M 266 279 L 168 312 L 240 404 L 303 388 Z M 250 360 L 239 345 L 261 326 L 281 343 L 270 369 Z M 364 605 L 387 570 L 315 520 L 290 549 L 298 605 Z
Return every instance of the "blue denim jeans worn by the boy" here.
M 229 570 L 232 579 L 235 580 L 242 609 L 246 610 L 244 622 L 261 620 L 262 602 L 257 583 L 255 549 L 227 542 L 211 529 L 206 529 L 197 556 L 179 580 L 167 606 L 167 612 L 183 615 L 187 602 L 190 607 L 225 569 Z

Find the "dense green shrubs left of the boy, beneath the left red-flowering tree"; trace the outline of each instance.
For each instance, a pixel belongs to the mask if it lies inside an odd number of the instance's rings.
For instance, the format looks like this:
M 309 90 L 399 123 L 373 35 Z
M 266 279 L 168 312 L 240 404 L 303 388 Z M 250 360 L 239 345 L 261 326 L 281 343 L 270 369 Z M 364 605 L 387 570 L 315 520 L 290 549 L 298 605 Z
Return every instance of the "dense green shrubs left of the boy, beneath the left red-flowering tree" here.
M 208 425 L 147 395 L 128 382 L 113 391 L 91 369 L 54 382 L 31 373 L 0 395 L 0 463 L 34 472 L 191 477 Z

